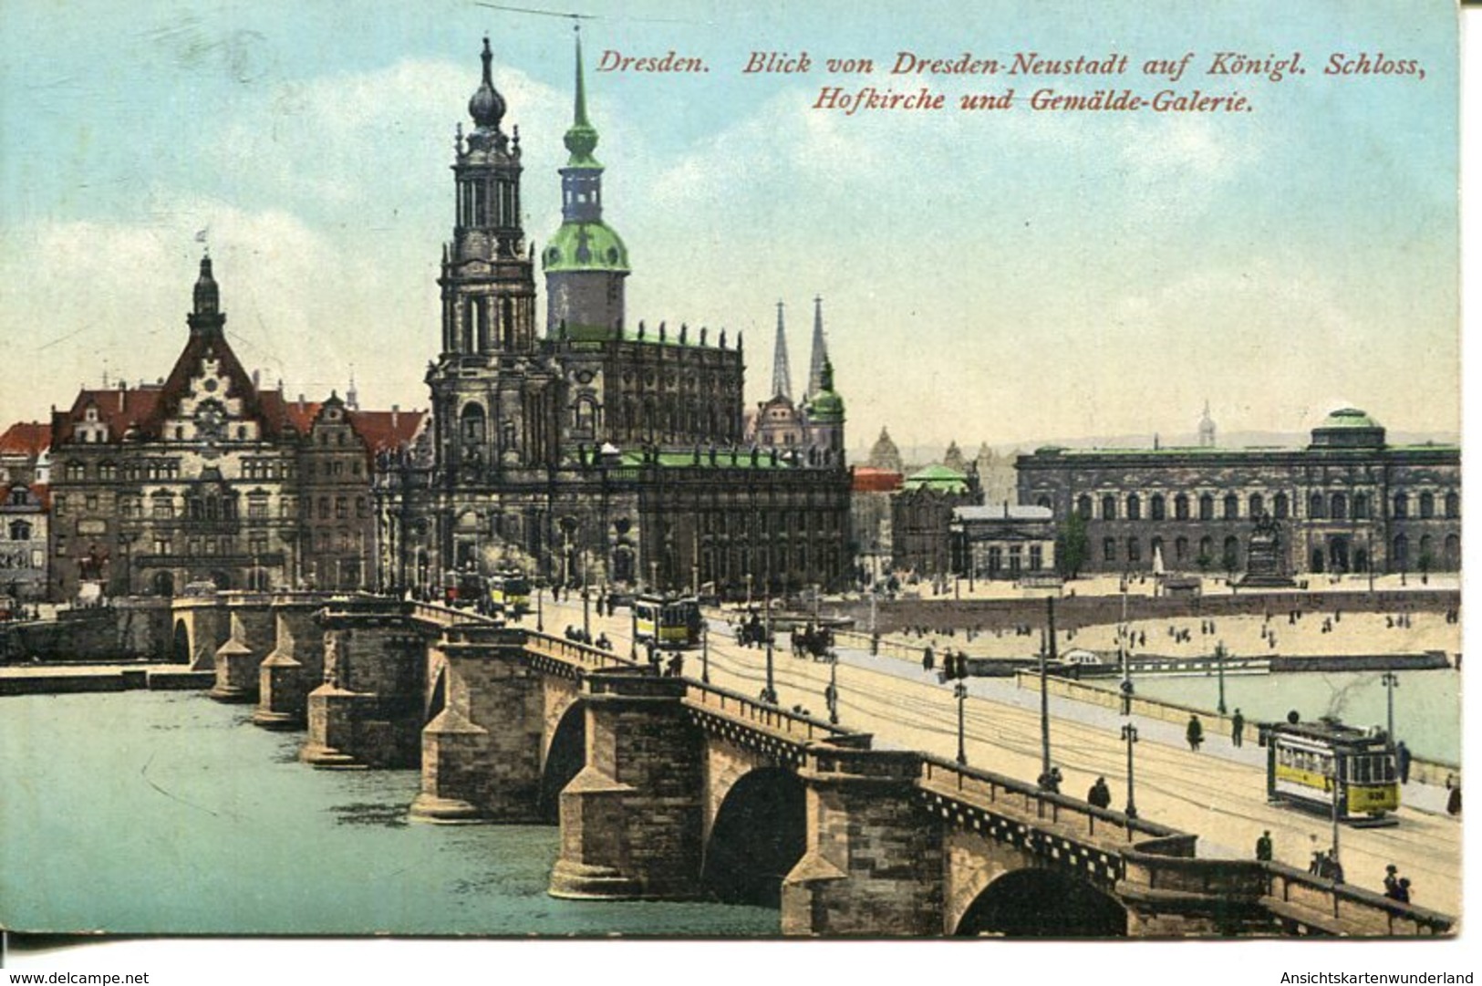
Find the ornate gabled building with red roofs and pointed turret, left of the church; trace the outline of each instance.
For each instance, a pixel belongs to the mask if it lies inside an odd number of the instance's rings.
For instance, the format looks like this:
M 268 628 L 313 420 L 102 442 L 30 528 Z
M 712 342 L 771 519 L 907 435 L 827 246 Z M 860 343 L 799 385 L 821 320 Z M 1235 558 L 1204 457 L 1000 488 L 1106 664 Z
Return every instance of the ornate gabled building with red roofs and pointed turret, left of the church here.
M 341 427 L 354 412 L 336 397 L 293 403 L 258 387 L 225 322 L 212 262 L 202 259 L 190 335 L 169 377 L 83 390 L 53 412 L 53 599 L 77 598 L 83 583 L 108 595 L 368 584 L 370 463 L 396 437 L 372 430 L 368 442 Z M 366 514 L 341 504 L 365 504 Z

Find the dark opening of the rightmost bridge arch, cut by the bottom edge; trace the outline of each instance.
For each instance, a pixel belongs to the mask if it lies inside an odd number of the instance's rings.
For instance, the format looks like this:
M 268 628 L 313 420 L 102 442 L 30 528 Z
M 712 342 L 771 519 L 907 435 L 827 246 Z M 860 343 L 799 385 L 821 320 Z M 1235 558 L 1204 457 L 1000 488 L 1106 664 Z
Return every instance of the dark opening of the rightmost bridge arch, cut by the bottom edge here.
M 953 934 L 1125 937 L 1126 909 L 1106 891 L 1070 873 L 1046 867 L 1017 869 L 993 879 L 974 897 Z

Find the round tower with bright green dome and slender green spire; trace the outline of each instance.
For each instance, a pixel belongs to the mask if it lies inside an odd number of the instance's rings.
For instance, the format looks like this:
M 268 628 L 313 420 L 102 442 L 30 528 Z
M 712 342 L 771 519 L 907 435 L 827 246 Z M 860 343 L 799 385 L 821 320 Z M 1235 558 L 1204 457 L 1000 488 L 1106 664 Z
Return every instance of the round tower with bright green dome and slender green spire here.
M 614 340 L 622 334 L 628 249 L 602 221 L 602 165 L 593 157 L 597 129 L 587 120 L 587 85 L 576 36 L 576 105 L 566 130 L 571 157 L 560 169 L 562 225 L 541 254 L 545 270 L 545 335 Z

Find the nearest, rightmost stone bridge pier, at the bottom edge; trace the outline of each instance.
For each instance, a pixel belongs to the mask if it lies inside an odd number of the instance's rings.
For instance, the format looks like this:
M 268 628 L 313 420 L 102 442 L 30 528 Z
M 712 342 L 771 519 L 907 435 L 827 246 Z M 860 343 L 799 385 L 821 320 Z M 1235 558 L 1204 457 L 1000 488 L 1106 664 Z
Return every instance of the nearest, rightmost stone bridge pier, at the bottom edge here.
M 941 827 L 916 804 L 920 756 L 808 747 L 808 848 L 782 879 L 782 934 L 941 934 Z

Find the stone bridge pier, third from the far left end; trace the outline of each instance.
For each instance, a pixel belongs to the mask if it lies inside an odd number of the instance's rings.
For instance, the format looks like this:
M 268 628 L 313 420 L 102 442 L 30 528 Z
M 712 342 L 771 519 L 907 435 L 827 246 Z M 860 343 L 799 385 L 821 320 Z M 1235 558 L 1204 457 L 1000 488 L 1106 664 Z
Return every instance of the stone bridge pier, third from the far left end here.
M 336 602 L 320 621 L 325 684 L 308 694 L 299 759 L 326 770 L 416 767 L 425 638 L 400 603 Z

